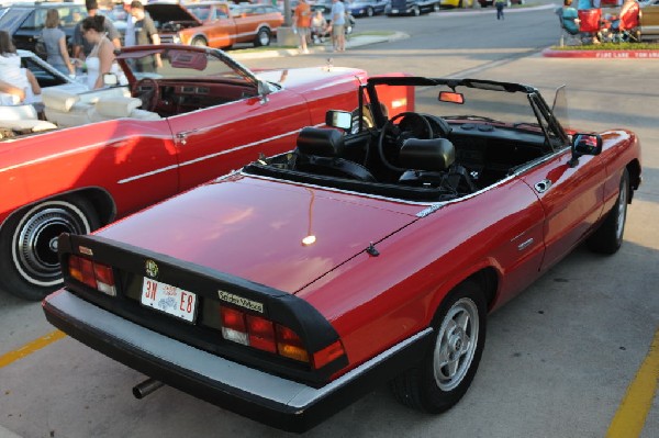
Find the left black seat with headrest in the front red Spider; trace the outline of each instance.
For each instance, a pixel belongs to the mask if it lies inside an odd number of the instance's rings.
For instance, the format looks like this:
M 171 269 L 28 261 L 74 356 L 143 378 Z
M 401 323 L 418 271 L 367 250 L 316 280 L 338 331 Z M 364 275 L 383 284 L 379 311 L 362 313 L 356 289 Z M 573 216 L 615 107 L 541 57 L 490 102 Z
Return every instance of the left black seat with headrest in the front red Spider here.
M 344 135 L 336 130 L 304 127 L 298 135 L 295 169 L 328 177 L 375 182 L 364 166 L 340 158 L 345 151 Z

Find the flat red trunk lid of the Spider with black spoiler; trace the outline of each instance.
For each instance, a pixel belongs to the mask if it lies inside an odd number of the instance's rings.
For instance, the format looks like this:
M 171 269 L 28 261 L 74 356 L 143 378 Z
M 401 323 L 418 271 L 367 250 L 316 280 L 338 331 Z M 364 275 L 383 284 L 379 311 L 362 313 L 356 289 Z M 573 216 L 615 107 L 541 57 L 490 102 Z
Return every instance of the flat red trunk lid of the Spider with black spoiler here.
M 98 234 L 294 293 L 423 206 L 234 176 Z M 315 243 L 302 239 L 315 236 Z

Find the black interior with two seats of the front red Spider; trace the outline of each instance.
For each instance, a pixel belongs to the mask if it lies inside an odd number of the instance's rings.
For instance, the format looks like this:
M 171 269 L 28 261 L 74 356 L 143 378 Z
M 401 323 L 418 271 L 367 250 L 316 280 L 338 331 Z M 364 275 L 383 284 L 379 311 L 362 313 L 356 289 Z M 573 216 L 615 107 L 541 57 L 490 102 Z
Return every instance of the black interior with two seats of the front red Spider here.
M 450 122 L 450 123 L 449 123 Z M 380 130 L 303 128 L 289 154 L 248 173 L 411 201 L 474 193 L 547 154 L 541 132 L 405 112 Z

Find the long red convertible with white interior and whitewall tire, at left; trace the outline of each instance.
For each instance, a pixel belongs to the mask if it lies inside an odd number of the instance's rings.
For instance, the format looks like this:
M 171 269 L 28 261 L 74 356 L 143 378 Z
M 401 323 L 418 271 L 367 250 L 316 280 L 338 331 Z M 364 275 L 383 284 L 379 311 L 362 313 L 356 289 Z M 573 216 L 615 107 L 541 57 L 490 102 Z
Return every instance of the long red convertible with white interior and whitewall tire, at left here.
M 142 71 L 155 56 L 163 67 Z M 257 75 L 181 45 L 130 47 L 119 63 L 126 86 L 44 90 L 47 121 L 31 105 L 0 111 L 0 288 L 11 293 L 41 300 L 62 285 L 60 233 L 89 233 L 288 150 L 302 127 L 324 125 L 327 108 L 356 111 L 366 81 L 337 67 Z

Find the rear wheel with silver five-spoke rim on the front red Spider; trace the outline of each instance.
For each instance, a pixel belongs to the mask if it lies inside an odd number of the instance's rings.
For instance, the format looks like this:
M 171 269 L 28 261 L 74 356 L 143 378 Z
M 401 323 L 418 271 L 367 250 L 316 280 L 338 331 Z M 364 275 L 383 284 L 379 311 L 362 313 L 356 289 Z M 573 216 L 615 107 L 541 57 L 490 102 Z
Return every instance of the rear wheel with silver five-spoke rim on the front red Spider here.
M 485 313 L 483 291 L 474 281 L 454 289 L 435 315 L 435 341 L 422 361 L 390 382 L 395 398 L 432 414 L 458 403 L 478 370 L 485 345 Z

